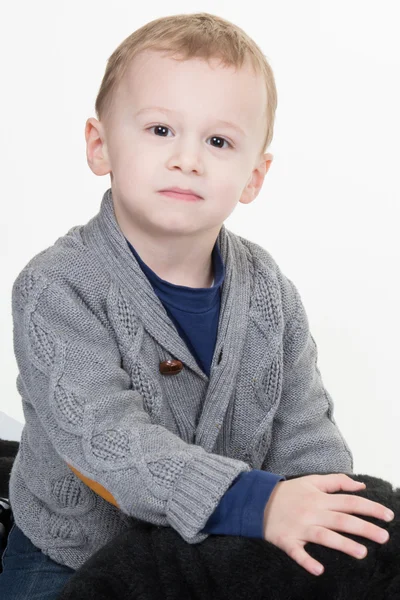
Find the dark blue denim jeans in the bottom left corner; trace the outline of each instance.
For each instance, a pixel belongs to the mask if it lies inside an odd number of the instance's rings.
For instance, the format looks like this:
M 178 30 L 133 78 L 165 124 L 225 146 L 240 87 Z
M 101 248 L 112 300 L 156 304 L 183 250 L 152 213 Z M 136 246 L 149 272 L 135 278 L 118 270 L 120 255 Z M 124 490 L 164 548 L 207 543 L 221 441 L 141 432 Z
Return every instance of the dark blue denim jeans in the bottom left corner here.
M 8 534 L 2 566 L 1 600 L 55 600 L 75 573 L 43 554 L 16 523 Z

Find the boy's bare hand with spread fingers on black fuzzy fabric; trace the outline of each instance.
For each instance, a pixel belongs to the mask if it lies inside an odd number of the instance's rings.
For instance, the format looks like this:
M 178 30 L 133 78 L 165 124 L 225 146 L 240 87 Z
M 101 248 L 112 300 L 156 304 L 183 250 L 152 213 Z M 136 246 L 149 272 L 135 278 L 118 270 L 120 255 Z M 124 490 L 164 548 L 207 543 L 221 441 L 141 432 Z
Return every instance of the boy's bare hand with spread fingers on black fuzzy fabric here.
M 378 502 L 361 496 L 330 494 L 339 490 L 355 492 L 364 488 L 364 483 L 354 481 L 343 473 L 307 475 L 280 481 L 265 506 L 265 540 L 281 548 L 312 575 L 320 575 L 324 568 L 304 550 L 307 542 L 364 558 L 367 554 L 365 546 L 336 531 L 380 543 L 389 539 L 388 532 L 347 513 L 368 515 L 384 521 L 391 521 L 393 517 L 387 518 L 388 509 Z

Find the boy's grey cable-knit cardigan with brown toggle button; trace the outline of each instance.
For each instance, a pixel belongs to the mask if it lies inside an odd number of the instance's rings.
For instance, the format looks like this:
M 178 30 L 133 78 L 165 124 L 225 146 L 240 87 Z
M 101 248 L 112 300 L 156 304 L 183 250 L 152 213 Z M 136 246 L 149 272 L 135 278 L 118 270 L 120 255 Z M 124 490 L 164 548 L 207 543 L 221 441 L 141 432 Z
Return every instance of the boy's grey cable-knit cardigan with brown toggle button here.
M 351 472 L 300 296 L 270 254 L 221 227 L 226 275 L 208 377 L 99 213 L 33 257 L 12 290 L 26 425 L 10 479 L 17 525 L 74 569 L 130 519 L 203 541 L 235 478 Z M 165 376 L 159 364 L 184 368 Z M 68 467 L 95 480 L 119 509 Z

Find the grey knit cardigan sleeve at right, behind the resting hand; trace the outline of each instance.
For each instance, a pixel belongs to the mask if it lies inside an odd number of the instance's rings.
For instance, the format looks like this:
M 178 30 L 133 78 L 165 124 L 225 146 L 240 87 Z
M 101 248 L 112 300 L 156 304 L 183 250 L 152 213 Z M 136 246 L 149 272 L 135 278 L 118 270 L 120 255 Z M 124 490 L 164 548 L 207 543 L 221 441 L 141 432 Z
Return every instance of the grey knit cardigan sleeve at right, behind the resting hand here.
M 282 286 L 284 305 L 293 308 L 283 339 L 282 394 L 261 468 L 286 476 L 352 473 L 353 456 L 333 416 L 300 294 L 286 277 Z

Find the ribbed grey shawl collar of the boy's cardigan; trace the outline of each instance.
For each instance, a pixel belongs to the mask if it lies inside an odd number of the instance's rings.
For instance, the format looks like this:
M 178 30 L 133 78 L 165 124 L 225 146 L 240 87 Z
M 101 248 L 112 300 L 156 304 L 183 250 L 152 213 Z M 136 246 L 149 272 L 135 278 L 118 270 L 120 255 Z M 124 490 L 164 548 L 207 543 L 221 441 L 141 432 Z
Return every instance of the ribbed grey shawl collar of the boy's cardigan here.
M 196 431 L 196 444 L 212 451 L 222 426 L 229 401 L 234 396 L 236 374 L 241 368 L 243 346 L 248 325 L 251 257 L 239 236 L 222 224 L 218 245 L 225 265 L 221 290 L 221 311 L 210 378 L 200 369 L 179 335 L 164 306 L 131 252 L 116 220 L 112 191 L 103 195 L 99 213 L 81 230 L 112 278 L 125 291 L 146 331 L 174 358 L 183 362 L 198 377 L 208 382 L 206 398 Z M 221 350 L 223 356 L 218 364 Z

